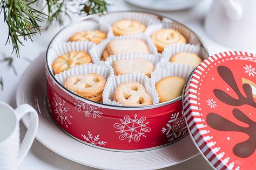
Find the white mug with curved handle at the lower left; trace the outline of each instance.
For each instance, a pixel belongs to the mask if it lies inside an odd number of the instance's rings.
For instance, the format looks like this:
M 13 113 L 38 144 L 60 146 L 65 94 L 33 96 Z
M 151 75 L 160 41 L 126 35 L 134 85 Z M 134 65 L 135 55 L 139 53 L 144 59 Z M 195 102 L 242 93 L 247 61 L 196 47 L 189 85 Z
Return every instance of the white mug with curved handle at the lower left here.
M 30 125 L 19 145 L 19 121 L 30 113 Z M 0 169 L 17 169 L 28 153 L 38 128 L 38 115 L 29 104 L 15 110 L 0 101 Z

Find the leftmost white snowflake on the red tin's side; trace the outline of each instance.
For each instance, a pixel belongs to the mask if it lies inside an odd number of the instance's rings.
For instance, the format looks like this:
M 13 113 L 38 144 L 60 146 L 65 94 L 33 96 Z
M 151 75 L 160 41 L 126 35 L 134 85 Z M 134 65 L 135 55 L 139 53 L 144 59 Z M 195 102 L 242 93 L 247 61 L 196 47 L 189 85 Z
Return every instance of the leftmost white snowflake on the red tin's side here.
M 53 97 L 52 104 L 55 107 L 54 109 L 55 114 L 58 115 L 57 121 L 59 121 L 60 119 L 60 123 L 65 124 L 66 128 L 68 128 L 68 124 L 71 124 L 70 118 L 72 119 L 73 116 L 68 114 L 69 108 L 64 107 L 65 101 L 55 94 L 55 97 Z

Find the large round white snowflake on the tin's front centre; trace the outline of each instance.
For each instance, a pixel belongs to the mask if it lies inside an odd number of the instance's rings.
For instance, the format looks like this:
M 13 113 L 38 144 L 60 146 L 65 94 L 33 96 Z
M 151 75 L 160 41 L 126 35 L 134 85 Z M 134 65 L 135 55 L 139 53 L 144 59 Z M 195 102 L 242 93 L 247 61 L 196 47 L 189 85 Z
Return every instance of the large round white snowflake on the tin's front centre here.
M 118 129 L 116 133 L 120 133 L 119 139 L 125 140 L 129 139 L 129 143 L 131 139 L 134 141 L 139 141 L 140 137 L 146 137 L 145 133 L 150 132 L 150 128 L 146 127 L 149 122 L 145 122 L 146 117 L 137 118 L 137 114 L 134 115 L 134 118 L 130 118 L 130 116 L 125 116 L 124 119 L 120 119 L 121 123 L 115 123 L 114 128 Z

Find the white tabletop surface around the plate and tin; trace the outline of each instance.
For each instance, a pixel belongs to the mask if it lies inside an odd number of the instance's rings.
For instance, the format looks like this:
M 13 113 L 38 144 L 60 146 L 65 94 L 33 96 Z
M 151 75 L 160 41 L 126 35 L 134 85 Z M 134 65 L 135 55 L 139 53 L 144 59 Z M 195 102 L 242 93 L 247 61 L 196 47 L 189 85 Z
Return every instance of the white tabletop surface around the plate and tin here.
M 113 4 L 110 6 L 110 11 L 113 10 L 144 10 L 137 8 L 131 4 L 128 4 L 124 1 L 108 1 L 109 3 Z M 153 5 L 153 4 L 152 4 Z M 196 7 L 188 10 L 181 10 L 177 12 L 158 12 L 158 11 L 151 11 L 157 12 L 162 15 L 171 17 L 173 19 L 178 20 L 179 22 L 187 25 L 193 31 L 195 31 L 199 37 L 201 37 L 208 48 L 208 51 L 211 54 L 223 52 L 223 51 L 230 51 L 235 50 L 232 48 L 227 48 L 222 45 L 217 44 L 214 42 L 204 31 L 203 29 L 203 19 L 205 13 L 208 11 L 211 5 L 210 0 L 204 0 L 200 2 Z M 51 32 L 51 31 L 50 31 Z M 11 46 L 6 45 L 5 41 L 8 37 L 8 29 L 3 23 L 3 15 L 0 16 L 0 52 L 4 52 L 6 54 L 10 54 Z M 25 47 L 21 46 L 21 59 L 15 58 L 14 66 L 18 72 L 17 75 L 8 68 L 3 63 L 0 63 L 0 77 L 3 77 L 4 80 L 4 90 L 0 90 L 0 101 L 4 101 L 9 103 L 12 107 L 16 107 L 15 103 L 15 93 L 16 88 L 18 86 L 19 78 L 21 77 L 22 73 L 30 65 L 29 60 L 34 60 L 40 53 L 46 51 L 46 47 L 48 42 L 51 40 L 52 36 L 49 33 L 42 33 L 42 36 L 37 36 L 34 42 L 25 42 Z M 238 50 L 238 49 L 237 49 Z M 248 51 L 247 49 L 242 49 L 243 51 Z M 249 51 L 250 52 L 250 51 Z M 2 54 L 0 53 L 0 58 L 2 58 Z M 26 131 L 25 126 L 21 123 L 21 139 L 24 137 L 24 133 Z M 61 141 L 56 141 L 61 142 Z M 99 160 L 100 161 L 100 160 Z M 33 145 L 22 162 L 19 169 L 94 169 L 90 167 L 86 167 L 76 162 L 72 162 L 68 159 L 61 157 L 60 155 L 52 152 L 44 145 L 39 143 L 38 140 L 35 139 Z M 204 158 L 201 155 L 185 161 L 181 164 L 176 166 L 167 167 L 165 169 L 211 169 L 211 167 L 207 164 Z

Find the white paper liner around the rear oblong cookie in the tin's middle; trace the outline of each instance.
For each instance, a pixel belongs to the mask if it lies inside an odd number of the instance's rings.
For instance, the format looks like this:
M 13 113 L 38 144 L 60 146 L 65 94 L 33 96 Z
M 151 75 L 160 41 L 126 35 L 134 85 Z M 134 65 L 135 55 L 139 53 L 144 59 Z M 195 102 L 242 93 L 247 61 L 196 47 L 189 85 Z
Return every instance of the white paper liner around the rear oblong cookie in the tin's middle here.
M 131 34 L 131 35 L 127 35 L 127 36 L 107 38 L 107 39 L 103 40 L 102 42 L 100 42 L 99 44 L 93 46 L 89 51 L 90 55 L 92 56 L 93 63 L 98 63 L 101 61 L 100 59 L 102 58 L 102 53 L 103 53 L 104 49 L 106 48 L 107 44 L 111 40 L 120 40 L 120 39 L 122 39 L 122 40 L 123 39 L 141 39 L 146 42 L 147 47 L 149 48 L 149 51 L 151 54 L 158 54 L 157 47 L 154 45 L 153 41 L 148 36 L 146 36 L 144 33 Z M 127 53 L 127 54 L 129 54 L 129 53 Z

